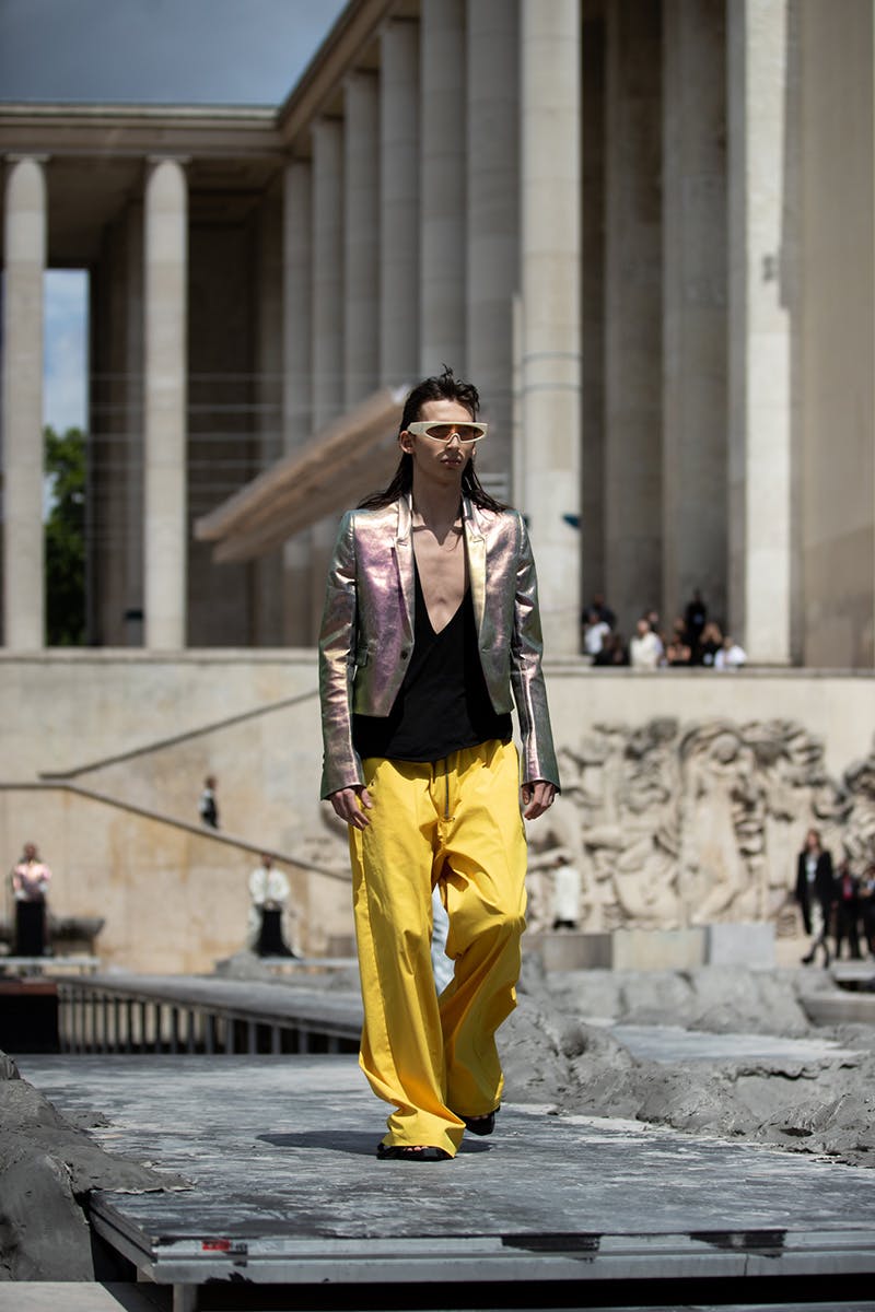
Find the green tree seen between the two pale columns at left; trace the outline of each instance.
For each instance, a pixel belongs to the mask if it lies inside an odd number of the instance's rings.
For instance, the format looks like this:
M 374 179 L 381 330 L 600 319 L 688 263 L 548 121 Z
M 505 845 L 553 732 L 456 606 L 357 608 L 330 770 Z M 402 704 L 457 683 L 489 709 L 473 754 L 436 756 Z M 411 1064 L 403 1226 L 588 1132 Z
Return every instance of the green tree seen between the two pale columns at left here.
M 46 428 L 46 628 L 50 647 L 85 642 L 85 434 Z

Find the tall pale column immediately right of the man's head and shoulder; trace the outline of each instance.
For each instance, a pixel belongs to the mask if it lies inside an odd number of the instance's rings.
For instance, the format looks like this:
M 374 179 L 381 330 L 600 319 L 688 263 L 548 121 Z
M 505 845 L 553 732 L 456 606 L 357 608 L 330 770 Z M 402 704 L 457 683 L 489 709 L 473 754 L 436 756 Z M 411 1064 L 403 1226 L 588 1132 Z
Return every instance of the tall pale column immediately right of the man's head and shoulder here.
M 580 0 L 522 0 L 519 38 L 522 508 L 559 656 L 580 649 Z

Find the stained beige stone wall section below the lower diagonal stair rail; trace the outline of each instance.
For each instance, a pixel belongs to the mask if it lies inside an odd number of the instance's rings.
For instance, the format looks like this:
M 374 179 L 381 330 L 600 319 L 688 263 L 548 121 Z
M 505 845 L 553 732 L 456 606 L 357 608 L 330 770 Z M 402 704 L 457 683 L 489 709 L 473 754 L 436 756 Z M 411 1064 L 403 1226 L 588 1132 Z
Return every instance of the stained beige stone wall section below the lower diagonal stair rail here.
M 254 845 L 64 787 L 0 790 L 0 836 L 9 863 L 22 841 L 38 841 L 52 869 L 54 916 L 105 920 L 96 942 L 104 968 L 211 974 L 247 945 Z M 291 886 L 291 946 L 329 954 L 335 938 L 352 934 L 349 879 L 287 855 L 277 865 Z

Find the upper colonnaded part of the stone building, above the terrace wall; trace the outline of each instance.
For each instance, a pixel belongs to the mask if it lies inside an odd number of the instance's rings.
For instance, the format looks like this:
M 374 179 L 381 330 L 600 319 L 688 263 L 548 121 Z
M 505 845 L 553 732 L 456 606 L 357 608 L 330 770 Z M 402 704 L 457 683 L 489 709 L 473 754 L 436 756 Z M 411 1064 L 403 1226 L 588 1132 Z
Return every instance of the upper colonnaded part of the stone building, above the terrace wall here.
M 0 105 L 4 644 L 43 644 L 42 272 L 75 266 L 94 646 L 310 644 L 337 512 L 391 457 L 341 478 L 359 405 L 446 361 L 554 653 L 596 590 L 628 632 L 698 586 L 754 663 L 871 666 L 874 26 L 352 0 L 275 110 Z M 198 535 L 331 424 L 294 535 Z

